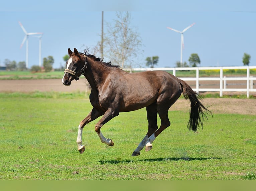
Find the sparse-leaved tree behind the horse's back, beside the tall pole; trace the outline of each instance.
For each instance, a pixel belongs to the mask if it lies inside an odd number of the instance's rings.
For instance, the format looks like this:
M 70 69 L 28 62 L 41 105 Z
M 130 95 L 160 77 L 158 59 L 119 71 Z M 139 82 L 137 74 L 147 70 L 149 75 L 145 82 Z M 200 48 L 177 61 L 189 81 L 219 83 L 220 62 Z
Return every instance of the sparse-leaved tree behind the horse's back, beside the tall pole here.
M 104 34 L 104 56 L 109 58 L 114 65 L 121 68 L 131 67 L 135 58 L 142 51 L 141 38 L 131 28 L 131 15 L 129 12 L 117 12 L 114 25 L 107 24 L 107 32 Z

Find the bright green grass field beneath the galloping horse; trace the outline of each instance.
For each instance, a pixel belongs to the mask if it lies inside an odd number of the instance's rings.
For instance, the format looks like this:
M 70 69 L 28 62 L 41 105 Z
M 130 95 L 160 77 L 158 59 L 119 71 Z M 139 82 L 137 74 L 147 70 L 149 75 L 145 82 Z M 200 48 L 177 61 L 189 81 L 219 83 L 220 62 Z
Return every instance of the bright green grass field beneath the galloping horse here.
M 72 98 L 73 97 L 73 98 Z M 153 149 L 131 157 L 147 131 L 146 111 L 120 113 L 102 128 L 79 122 L 92 106 L 81 95 L 0 95 L 1 180 L 250 180 L 256 179 L 255 115 L 218 114 L 198 133 L 186 129 L 189 111 L 169 111 L 171 126 Z

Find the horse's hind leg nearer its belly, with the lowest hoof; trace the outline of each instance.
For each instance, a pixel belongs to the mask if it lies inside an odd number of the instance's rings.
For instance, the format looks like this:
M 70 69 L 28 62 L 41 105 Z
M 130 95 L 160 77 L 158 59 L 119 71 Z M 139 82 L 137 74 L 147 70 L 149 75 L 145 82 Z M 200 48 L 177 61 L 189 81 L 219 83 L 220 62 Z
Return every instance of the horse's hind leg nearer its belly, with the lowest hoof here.
M 156 102 L 146 107 L 147 109 L 147 119 L 148 119 L 148 132 L 146 136 L 142 139 L 138 147 L 133 151 L 132 156 L 140 155 L 140 150 L 146 145 L 148 138 L 157 130 L 157 109 Z M 152 147 L 151 147 L 152 148 Z M 150 150 L 150 149 L 149 149 Z M 146 151 L 148 151 L 146 149 Z

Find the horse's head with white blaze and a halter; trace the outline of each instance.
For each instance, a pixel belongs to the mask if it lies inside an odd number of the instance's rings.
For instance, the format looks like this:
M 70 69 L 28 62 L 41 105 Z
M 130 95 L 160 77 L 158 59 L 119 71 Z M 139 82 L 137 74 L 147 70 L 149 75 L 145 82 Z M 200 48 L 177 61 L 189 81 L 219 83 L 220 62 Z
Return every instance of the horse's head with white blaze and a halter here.
M 79 77 L 84 74 L 86 68 L 86 56 L 80 54 L 76 48 L 74 52 L 68 49 L 69 60 L 67 61 L 67 67 L 65 69 L 65 74 L 62 78 L 62 84 L 65 86 L 70 86 L 72 80 L 79 80 Z

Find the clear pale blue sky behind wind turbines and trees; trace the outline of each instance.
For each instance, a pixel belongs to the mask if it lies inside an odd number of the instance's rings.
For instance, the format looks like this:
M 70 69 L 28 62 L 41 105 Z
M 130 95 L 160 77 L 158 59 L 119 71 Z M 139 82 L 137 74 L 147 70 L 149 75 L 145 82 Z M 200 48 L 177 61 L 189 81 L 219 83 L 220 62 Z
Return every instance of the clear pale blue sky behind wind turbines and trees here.
M 256 1 L 254 0 L 62 0 L 4 1 L 0 7 L 0 66 L 4 60 L 26 60 L 27 32 L 42 32 L 42 59 L 54 58 L 53 68 L 65 65 L 68 48 L 96 46 L 101 40 L 102 11 L 106 22 L 113 23 L 117 11 L 129 11 L 130 26 L 138 32 L 143 46 L 134 67 L 146 67 L 147 57 L 158 56 L 155 67 L 175 67 L 180 61 L 180 34 L 184 33 L 183 61 L 191 54 L 200 57 L 201 67 L 243 66 L 244 53 L 251 56 L 249 66 L 256 66 Z M 90 53 L 90 52 L 89 52 Z M 99 55 L 100 56 L 100 55 Z M 108 58 L 104 61 L 109 62 Z M 29 37 L 29 68 L 39 63 L 39 39 Z M 112 63 L 114 65 L 118 63 Z

